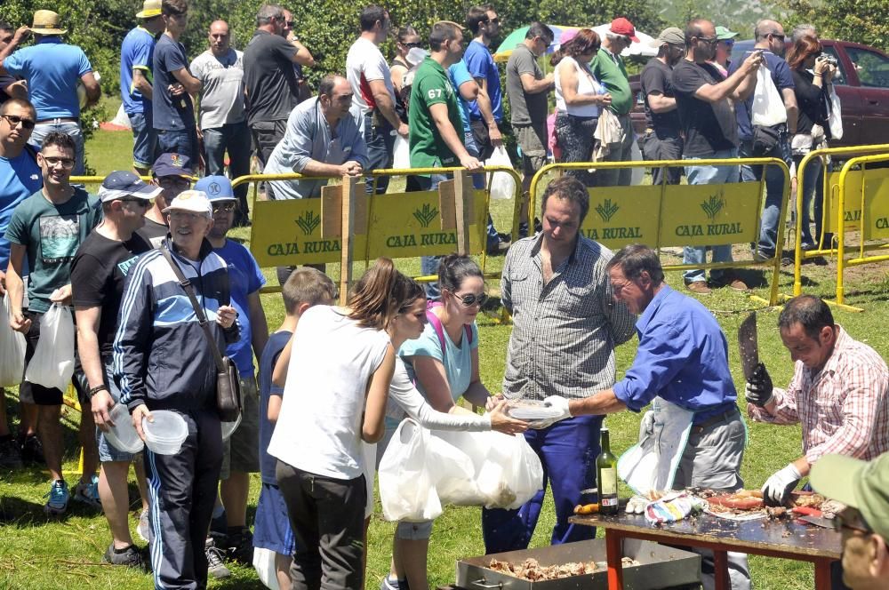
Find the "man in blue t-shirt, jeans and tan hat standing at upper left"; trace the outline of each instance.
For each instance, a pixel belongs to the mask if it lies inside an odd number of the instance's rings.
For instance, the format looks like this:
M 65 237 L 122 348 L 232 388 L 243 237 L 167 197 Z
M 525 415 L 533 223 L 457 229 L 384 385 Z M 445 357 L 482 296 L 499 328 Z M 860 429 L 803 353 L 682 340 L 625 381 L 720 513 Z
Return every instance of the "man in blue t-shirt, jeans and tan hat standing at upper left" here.
M 164 32 L 160 0 L 145 0 L 136 18 L 141 20 L 140 25 L 126 34 L 120 48 L 120 97 L 132 128 L 132 167 L 140 176 L 148 176 L 157 151 L 151 69 L 155 38 Z

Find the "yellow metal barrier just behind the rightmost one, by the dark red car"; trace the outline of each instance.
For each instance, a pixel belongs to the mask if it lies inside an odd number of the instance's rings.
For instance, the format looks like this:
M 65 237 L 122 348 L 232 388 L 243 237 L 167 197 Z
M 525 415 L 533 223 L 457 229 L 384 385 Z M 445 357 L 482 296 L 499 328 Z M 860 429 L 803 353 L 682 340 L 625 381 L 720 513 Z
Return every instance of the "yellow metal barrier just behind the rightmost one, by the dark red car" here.
M 803 270 L 802 264 L 803 260 L 816 258 L 819 256 L 832 256 L 836 254 L 837 251 L 833 248 L 833 243 L 827 244 L 827 248 L 825 248 L 823 234 L 829 233 L 827 227 L 829 225 L 828 221 L 830 219 L 830 211 L 832 209 L 831 203 L 834 199 L 834 190 L 832 183 L 830 182 L 830 174 L 827 171 L 827 166 L 825 165 L 825 159 L 828 156 L 834 155 L 862 155 L 862 154 L 873 154 L 879 152 L 889 152 L 889 144 L 878 144 L 873 146 L 853 146 L 849 148 L 824 148 L 824 149 L 813 149 L 811 152 L 806 154 L 803 159 L 799 162 L 797 166 L 797 203 L 796 203 L 796 211 L 797 211 L 797 222 L 795 225 L 795 237 L 794 237 L 794 264 L 793 264 L 793 296 L 797 297 L 797 295 L 802 294 L 803 292 Z M 815 250 L 804 251 L 803 250 L 803 201 L 802 198 L 802 188 L 803 188 L 803 179 L 805 179 L 805 168 L 809 165 L 813 159 L 818 158 L 821 160 L 821 165 L 824 167 L 824 179 L 823 179 L 823 191 L 821 198 L 823 200 L 823 205 L 821 207 L 821 235 L 819 236 L 818 247 Z M 837 186 L 838 193 L 838 186 Z

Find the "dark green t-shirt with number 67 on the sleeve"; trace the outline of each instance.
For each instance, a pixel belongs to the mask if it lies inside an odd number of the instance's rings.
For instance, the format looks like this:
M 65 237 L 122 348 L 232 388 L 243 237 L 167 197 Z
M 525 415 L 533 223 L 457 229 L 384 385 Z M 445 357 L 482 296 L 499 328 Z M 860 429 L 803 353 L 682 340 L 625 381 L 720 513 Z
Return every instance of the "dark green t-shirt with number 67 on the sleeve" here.
M 447 105 L 447 116 L 457 137 L 462 137 L 460 104 L 451 80 L 436 60 L 426 58 L 413 76 L 408 127 L 411 132 L 411 168 L 433 168 L 458 165 L 457 156 L 445 144 L 429 113 L 432 105 Z

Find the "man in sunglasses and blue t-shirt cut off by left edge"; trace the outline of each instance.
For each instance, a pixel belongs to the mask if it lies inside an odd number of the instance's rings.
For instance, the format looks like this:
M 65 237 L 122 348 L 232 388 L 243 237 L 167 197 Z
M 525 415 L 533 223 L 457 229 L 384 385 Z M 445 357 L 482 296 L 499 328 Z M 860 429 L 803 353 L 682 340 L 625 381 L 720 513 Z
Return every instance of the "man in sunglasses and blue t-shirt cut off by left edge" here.
M 28 146 L 36 112 L 28 100 L 11 99 L 0 105 L 0 295 L 5 295 L 6 267 L 9 266 L 9 240 L 4 237 L 16 205 L 44 186 L 36 153 Z M 36 441 L 37 407 L 26 397 L 22 401 L 20 431 L 25 441 Z M 28 432 L 29 431 L 29 432 Z M 21 466 L 19 445 L 6 423 L 6 396 L 0 389 L 0 467 Z

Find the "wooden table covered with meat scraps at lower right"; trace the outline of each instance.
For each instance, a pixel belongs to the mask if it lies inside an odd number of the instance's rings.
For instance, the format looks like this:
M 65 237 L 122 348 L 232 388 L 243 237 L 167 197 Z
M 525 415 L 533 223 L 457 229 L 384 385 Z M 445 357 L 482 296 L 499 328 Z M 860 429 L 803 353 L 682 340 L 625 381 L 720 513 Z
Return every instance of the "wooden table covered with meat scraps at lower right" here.
M 829 590 L 830 562 L 839 559 L 842 552 L 840 533 L 797 520 L 735 522 L 701 514 L 697 518 L 662 527 L 648 524 L 642 514 L 591 514 L 573 516 L 569 520 L 605 529 L 609 590 L 623 588 L 621 543 L 624 538 L 711 549 L 716 566 L 717 590 L 731 587 L 726 555 L 729 551 L 813 562 L 815 590 Z

